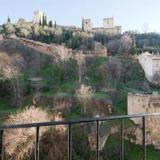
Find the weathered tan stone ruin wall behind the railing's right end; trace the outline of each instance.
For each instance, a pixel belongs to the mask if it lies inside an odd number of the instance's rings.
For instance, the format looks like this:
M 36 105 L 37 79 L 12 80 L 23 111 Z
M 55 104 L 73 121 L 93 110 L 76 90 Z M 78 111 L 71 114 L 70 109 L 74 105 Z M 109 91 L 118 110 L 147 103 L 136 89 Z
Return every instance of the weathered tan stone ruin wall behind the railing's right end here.
M 128 114 L 160 112 L 160 94 L 134 94 L 128 93 Z M 136 144 L 142 144 L 142 118 L 132 119 L 139 127 L 132 134 L 135 135 Z M 160 116 L 146 118 L 146 144 L 160 149 Z

